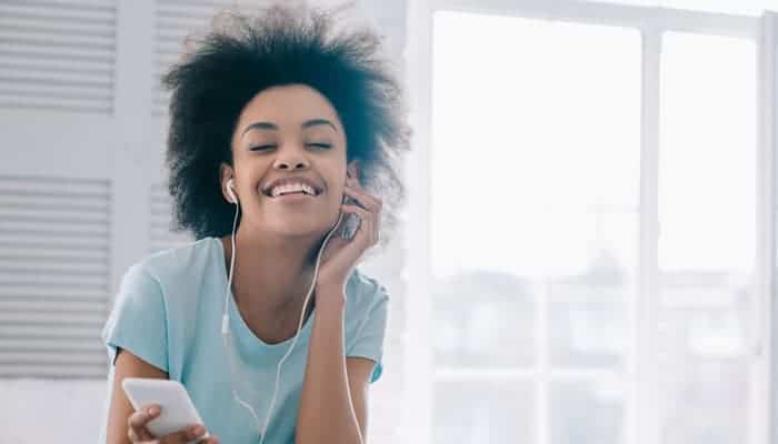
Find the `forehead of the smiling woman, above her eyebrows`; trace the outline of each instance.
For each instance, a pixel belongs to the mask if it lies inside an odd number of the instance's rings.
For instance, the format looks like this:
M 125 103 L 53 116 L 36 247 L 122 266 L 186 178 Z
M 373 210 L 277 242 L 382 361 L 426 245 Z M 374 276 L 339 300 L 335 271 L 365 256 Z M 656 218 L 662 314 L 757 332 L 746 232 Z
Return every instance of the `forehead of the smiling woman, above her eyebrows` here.
M 299 128 L 301 122 L 311 119 L 327 119 L 340 127 L 335 107 L 319 91 L 303 84 L 272 87 L 259 92 L 246 104 L 240 114 L 239 129 L 258 121 Z

